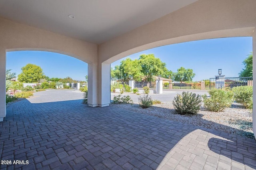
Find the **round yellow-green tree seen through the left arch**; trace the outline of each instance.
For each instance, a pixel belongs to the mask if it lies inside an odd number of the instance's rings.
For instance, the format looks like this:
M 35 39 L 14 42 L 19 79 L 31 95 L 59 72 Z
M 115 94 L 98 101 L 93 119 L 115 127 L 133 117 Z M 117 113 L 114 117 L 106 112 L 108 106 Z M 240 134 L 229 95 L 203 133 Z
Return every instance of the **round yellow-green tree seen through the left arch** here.
M 20 82 L 35 83 L 45 77 L 42 68 L 35 64 L 27 64 L 21 70 L 22 72 L 18 75 Z

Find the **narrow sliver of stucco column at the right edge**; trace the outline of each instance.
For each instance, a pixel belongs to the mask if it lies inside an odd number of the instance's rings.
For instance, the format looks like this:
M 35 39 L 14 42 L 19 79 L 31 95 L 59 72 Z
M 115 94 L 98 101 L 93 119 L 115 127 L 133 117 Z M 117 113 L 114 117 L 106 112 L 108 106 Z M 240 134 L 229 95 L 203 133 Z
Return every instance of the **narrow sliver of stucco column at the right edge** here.
M 256 78 L 256 30 L 252 35 L 252 76 Z M 252 110 L 252 131 L 256 137 L 256 86 L 253 86 L 253 110 Z

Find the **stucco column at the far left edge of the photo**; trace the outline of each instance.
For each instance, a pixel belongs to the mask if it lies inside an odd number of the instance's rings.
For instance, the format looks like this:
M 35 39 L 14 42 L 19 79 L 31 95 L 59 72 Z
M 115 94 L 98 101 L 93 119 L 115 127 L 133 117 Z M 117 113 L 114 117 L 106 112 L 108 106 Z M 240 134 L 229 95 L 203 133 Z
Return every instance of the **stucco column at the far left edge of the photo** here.
M 5 87 L 5 70 L 6 70 L 6 51 L 0 49 L 0 121 L 6 116 L 6 87 Z

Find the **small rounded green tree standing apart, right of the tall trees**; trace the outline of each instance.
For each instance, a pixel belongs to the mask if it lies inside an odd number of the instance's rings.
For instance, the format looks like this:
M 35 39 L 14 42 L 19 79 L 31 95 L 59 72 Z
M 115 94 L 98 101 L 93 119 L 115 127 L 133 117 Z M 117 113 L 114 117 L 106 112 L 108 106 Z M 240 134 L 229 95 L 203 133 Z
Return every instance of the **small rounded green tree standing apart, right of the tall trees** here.
M 178 68 L 177 72 L 174 73 L 174 80 L 180 83 L 185 81 L 192 81 L 195 75 L 196 74 L 193 73 L 192 69 L 180 67 Z

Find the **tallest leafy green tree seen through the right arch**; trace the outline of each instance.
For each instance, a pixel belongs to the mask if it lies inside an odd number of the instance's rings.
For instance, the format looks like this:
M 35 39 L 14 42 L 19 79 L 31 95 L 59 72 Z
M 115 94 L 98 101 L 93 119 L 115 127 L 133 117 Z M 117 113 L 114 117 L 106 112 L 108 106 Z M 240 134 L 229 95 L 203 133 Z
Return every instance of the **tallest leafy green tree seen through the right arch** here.
M 166 68 L 166 64 L 156 58 L 154 54 L 142 54 L 139 58 L 142 67 L 141 72 L 147 81 L 152 81 L 153 76 L 162 75 Z

